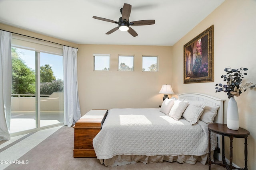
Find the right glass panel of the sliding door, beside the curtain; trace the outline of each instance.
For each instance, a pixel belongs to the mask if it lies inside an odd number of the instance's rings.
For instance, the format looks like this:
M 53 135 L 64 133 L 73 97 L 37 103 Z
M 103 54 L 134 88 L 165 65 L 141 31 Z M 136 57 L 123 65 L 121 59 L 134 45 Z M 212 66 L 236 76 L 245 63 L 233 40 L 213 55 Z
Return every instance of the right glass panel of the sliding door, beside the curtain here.
M 63 123 L 62 58 L 40 53 L 40 127 Z

